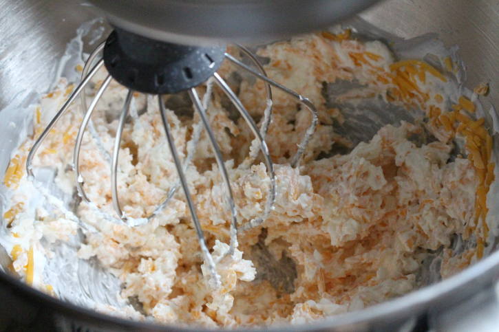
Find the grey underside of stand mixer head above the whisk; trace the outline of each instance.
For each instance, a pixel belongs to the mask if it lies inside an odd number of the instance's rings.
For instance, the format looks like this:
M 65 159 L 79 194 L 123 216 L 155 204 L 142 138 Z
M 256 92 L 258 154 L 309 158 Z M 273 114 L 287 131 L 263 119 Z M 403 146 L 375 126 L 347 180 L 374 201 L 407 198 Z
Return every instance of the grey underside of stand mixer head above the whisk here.
M 379 0 L 80 0 L 123 30 L 184 45 L 262 43 L 331 26 Z

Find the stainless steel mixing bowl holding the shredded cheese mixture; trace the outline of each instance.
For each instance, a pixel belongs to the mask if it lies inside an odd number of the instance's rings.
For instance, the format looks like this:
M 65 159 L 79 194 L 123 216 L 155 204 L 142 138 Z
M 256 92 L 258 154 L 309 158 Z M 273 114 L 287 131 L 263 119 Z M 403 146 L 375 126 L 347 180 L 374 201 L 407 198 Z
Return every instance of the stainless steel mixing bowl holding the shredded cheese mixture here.
M 66 0 L 0 1 L 0 109 L 50 85 L 65 44 L 93 14 Z M 499 3 L 495 0 L 387 0 L 366 21 L 410 38 L 436 32 L 460 45 L 468 86 L 489 82 L 499 98 Z M 487 105 L 485 108 L 488 109 Z M 10 153 L 1 137 L 0 153 Z M 6 164 L 1 164 L 4 170 Z M 287 331 L 498 331 L 499 252 L 441 283 L 363 311 Z M 55 330 L 54 330 L 55 329 Z M 0 331 L 179 331 L 129 322 L 50 298 L 0 273 Z M 185 329 L 199 331 L 200 329 Z M 272 331 L 281 331 L 275 328 Z

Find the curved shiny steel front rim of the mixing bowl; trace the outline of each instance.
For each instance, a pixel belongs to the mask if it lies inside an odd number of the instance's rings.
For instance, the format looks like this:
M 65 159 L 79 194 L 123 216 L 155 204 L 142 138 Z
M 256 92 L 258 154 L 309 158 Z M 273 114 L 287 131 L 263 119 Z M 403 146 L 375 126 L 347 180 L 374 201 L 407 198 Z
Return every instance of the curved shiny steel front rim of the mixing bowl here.
M 323 329 L 332 329 L 338 327 L 346 327 L 353 324 L 369 324 L 374 320 L 394 320 L 405 322 L 406 320 L 418 316 L 430 309 L 445 310 L 448 307 L 458 305 L 463 300 L 476 294 L 480 289 L 493 286 L 499 276 L 499 251 L 493 252 L 487 258 L 467 267 L 462 272 L 451 276 L 438 283 L 423 287 L 409 294 L 383 302 L 379 305 L 373 305 L 362 309 L 361 311 L 352 311 L 341 313 L 339 315 L 330 316 L 307 324 L 282 324 L 274 327 L 236 327 L 237 331 L 255 331 L 255 329 L 265 329 L 266 331 L 283 331 L 286 332 L 303 332 L 303 331 L 319 331 Z M 0 287 L 7 287 L 14 291 L 14 296 L 21 296 L 28 300 L 32 305 L 49 306 L 54 309 L 54 313 L 76 322 L 83 324 L 98 324 L 99 327 L 114 327 L 121 329 L 125 328 L 129 331 L 141 329 L 144 331 L 186 331 L 194 332 L 200 330 L 212 331 L 213 328 L 203 327 L 183 327 L 178 324 L 158 324 L 151 322 L 138 322 L 125 320 L 114 316 L 98 313 L 92 309 L 79 307 L 71 302 L 65 302 L 57 298 L 53 298 L 37 289 L 34 289 L 16 278 L 8 275 L 6 272 L 0 272 Z M 452 303 L 445 303 L 443 298 L 452 298 L 455 296 Z M 104 324 L 104 325 L 103 325 Z M 226 329 L 226 328 L 219 328 Z

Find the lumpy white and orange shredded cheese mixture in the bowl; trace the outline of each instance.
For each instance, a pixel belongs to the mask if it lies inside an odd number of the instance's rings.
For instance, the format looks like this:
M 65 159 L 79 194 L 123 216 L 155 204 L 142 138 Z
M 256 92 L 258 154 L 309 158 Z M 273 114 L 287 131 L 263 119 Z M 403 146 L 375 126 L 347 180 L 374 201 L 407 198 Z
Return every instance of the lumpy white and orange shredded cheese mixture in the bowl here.
M 290 157 L 311 115 L 296 100 L 273 90 L 273 122 L 266 142 L 277 175 L 275 210 L 261 226 L 239 235 L 235 258 L 226 256 L 217 265 L 222 287 L 213 291 L 207 285 L 182 190 L 151 223 L 136 228 L 106 221 L 80 203 L 78 217 L 97 232 L 84 231 L 86 243 L 78 255 L 82 259 L 96 256 L 118 276 L 124 287 L 121 297 L 136 296 L 145 313 L 160 322 L 212 327 L 301 323 L 409 293 L 419 286 L 416 274 L 423 260 L 441 247 L 444 278 L 482 258 L 488 236 L 487 192 L 494 180 L 492 139 L 484 120 L 476 120 L 474 102 L 464 96 L 452 102 L 446 95 L 452 70 L 439 71 L 418 59 L 396 62 L 383 43 L 357 41 L 348 30 L 275 43 L 260 49 L 259 56 L 270 59 L 264 66 L 270 78 L 309 98 L 319 111 L 319 125 L 304 159 L 299 167 L 291 168 Z M 229 78 L 234 70 L 224 63 L 220 73 Z M 94 78 L 89 97 L 106 74 L 102 70 Z M 323 82 L 337 80 L 356 80 L 361 86 L 341 94 L 337 102 L 378 96 L 407 110 L 419 109 L 424 119 L 415 124 L 388 124 L 370 142 L 354 147 L 333 130 L 333 124 L 343 123 L 341 109 L 325 106 Z M 266 108 L 263 82 L 229 82 L 251 115 L 262 119 Z M 34 114 L 34 137 L 72 89 L 63 79 L 43 96 Z M 486 90 L 481 87 L 476 93 Z M 205 86 L 198 87 L 200 94 L 205 91 Z M 109 153 L 126 92 L 112 82 L 96 107 L 93 121 Z M 164 200 L 177 174 L 157 102 L 136 93 L 132 104 L 145 113 L 139 112 L 136 120 L 125 125 L 118 197 L 127 215 L 141 218 Z M 251 167 L 244 164 L 253 135 L 242 119 L 233 118 L 231 110 L 224 108 L 226 104 L 222 91 L 214 89 L 208 114 L 224 158 L 229 160 L 226 167 L 242 224 L 264 211 L 270 181 L 259 159 Z M 183 159 L 198 118 L 173 111 L 167 116 Z M 81 120 L 81 105 L 76 102 L 34 159 L 35 168 L 56 167 L 56 184 L 70 195 L 75 191 L 72 158 Z M 25 159 L 34 137 L 13 153 L 3 180 L 9 188 L 3 210 L 10 243 L 6 250 L 12 257 L 11 268 L 26 283 L 57 296 L 57 290 L 43 282 L 45 257 L 50 259 L 53 253 L 40 241 L 67 241 L 78 224 L 64 214 L 54 217 L 42 206 L 29 208 L 30 192 L 35 189 L 26 178 Z M 457 141 L 463 142 L 464 151 L 451 158 Z M 335 146 L 353 149 L 346 155 L 323 157 Z M 110 167 L 88 133 L 80 168 L 89 199 L 114 215 Z M 204 133 L 187 180 L 211 252 L 215 258 L 222 256 L 229 248 L 230 216 L 222 208 L 224 184 Z M 454 253 L 450 246 L 455 234 L 476 245 Z M 273 267 L 266 264 L 286 267 L 288 283 L 276 281 L 270 271 Z M 145 319 L 131 305 L 96 309 Z

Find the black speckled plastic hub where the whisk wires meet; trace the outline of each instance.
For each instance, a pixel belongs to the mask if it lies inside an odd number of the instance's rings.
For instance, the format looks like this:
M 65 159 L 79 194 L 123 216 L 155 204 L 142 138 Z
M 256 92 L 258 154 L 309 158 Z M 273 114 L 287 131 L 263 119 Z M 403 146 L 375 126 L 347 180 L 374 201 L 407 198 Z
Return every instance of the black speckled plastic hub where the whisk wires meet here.
M 154 41 L 116 28 L 105 43 L 104 65 L 120 84 L 151 94 L 197 87 L 222 65 L 226 47 Z

